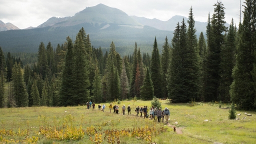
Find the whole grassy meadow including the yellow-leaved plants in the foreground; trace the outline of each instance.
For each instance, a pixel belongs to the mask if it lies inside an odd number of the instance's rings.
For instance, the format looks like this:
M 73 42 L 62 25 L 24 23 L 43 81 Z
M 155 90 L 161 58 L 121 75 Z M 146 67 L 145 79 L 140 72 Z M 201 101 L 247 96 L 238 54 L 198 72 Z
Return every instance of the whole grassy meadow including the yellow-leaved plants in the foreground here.
M 135 102 L 126 100 L 118 104 L 120 107 L 123 104 L 126 107 L 130 105 L 131 115 L 127 115 L 127 113 L 122 115 L 120 112 L 113 114 L 113 110 L 110 113 L 109 108 L 106 108 L 105 112 L 98 111 L 97 104 L 95 105 L 96 110 L 87 109 L 86 106 L 81 105 L 0 108 L 0 143 L 96 143 L 98 141 L 109 143 L 108 141 L 112 140 L 114 143 L 149 143 L 155 141 L 161 144 L 255 143 L 256 141 L 256 112 L 254 111 L 237 110 L 236 114 L 241 113 L 239 115 L 240 120 L 229 120 L 228 109 L 219 108 L 218 104 L 200 103 L 190 106 L 189 103 L 176 104 L 166 100 L 160 101 L 162 108 L 168 107 L 170 110 L 170 124 L 166 124 L 165 121 L 157 123 L 149 118 L 136 117 L 134 111 L 136 106 L 151 105 L 150 101 L 142 100 Z M 109 106 L 107 102 L 102 104 Z M 226 106 L 227 104 L 222 103 L 222 107 Z M 247 116 L 244 112 L 251 113 L 252 116 Z M 208 121 L 204 121 L 205 119 Z M 175 125 L 182 133 L 174 132 L 169 125 Z M 148 127 L 159 128 L 162 131 L 151 130 L 154 132 L 149 137 L 150 129 Z M 132 128 L 140 128 L 140 131 L 137 130 L 132 133 Z M 145 129 L 144 133 L 141 133 L 142 128 Z M 112 137 L 105 136 L 109 132 L 107 130 L 111 129 L 112 133 L 115 132 Z M 117 140 L 114 139 L 114 135 L 117 135 L 116 131 L 118 132 L 118 130 L 122 134 L 119 133 Z M 68 135 L 69 137 L 76 136 L 65 139 L 64 137 L 68 137 Z

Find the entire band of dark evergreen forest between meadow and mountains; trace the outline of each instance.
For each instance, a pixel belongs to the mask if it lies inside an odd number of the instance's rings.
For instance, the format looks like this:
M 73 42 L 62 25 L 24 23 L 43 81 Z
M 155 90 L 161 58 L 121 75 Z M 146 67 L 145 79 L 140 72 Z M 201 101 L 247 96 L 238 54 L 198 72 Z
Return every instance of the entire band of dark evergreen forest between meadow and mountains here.
M 153 97 L 170 102 L 233 102 L 256 109 L 256 0 L 243 3 L 243 20 L 225 27 L 221 1 L 208 14 L 199 38 L 193 9 L 177 22 L 172 39 L 142 53 L 134 41 L 127 55 L 93 47 L 83 27 L 56 47 L 38 43 L 37 54 L 3 52 L 0 47 L 0 107 L 69 106 Z M 198 32 L 198 31 L 197 31 Z

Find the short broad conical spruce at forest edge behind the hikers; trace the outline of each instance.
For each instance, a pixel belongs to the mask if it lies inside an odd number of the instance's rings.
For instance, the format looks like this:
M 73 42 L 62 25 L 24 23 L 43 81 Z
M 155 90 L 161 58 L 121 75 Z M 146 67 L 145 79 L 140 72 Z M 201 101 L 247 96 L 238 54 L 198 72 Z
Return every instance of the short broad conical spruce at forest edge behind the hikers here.
M 140 87 L 140 97 L 144 100 L 151 100 L 154 96 L 153 83 L 150 77 L 149 69 L 146 69 L 146 75 L 143 85 Z

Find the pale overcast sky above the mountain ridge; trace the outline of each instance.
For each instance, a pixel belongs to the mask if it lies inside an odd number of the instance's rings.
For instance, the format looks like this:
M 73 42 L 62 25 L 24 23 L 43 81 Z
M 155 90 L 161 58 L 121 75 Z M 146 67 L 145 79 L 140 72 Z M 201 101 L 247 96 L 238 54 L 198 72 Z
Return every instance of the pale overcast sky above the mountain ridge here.
M 239 23 L 240 0 L 220 0 L 225 7 L 225 20 Z M 241 0 L 243 4 L 244 0 Z M 206 22 L 208 12 L 213 13 L 217 0 L 0 0 L 0 20 L 20 29 L 36 27 L 52 16 L 73 16 L 88 6 L 99 3 L 118 8 L 128 15 L 157 18 L 163 21 L 174 15 L 188 17 L 190 6 L 194 19 Z M 243 7 L 242 7 L 243 8 Z M 242 18 L 241 18 L 242 19 Z

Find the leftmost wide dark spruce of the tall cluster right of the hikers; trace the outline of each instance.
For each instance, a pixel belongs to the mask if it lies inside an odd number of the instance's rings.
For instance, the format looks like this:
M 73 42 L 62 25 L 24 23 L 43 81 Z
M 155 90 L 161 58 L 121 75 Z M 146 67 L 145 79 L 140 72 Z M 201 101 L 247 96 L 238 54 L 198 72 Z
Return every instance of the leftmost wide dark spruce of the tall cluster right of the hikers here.
M 186 70 L 183 59 L 186 57 L 186 26 L 184 19 L 179 26 L 174 30 L 174 36 L 171 40 L 171 62 L 168 68 L 168 98 L 172 102 L 186 102 L 187 98 L 187 85 L 186 83 Z

